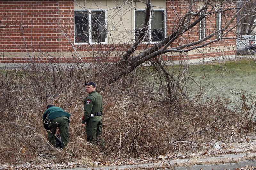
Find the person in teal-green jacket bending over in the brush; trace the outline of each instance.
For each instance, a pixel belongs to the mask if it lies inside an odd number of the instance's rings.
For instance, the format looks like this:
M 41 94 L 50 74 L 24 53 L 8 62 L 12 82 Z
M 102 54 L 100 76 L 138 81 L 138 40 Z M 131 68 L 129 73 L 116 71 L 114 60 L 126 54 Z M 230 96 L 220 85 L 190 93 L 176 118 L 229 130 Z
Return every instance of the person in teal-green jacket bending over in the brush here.
M 48 140 L 53 145 L 56 146 L 55 140 L 55 132 L 57 127 L 60 131 L 60 138 L 62 141 L 62 146 L 66 147 L 69 142 L 69 117 L 71 115 L 60 107 L 56 107 L 53 105 L 48 105 L 47 110 L 44 112 L 43 115 L 43 123 L 44 129 L 48 132 Z

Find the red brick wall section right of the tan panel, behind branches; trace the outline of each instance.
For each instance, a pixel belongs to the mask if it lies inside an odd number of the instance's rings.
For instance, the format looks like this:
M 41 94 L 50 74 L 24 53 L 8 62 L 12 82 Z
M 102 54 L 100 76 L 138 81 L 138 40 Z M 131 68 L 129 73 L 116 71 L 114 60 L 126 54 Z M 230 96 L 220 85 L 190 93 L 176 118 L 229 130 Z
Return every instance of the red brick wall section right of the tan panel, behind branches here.
M 186 13 L 188 13 L 189 9 L 189 3 L 180 3 L 183 1 L 180 0 L 167 0 L 167 35 L 171 35 L 173 32 L 175 32 L 178 29 L 179 22 L 183 19 L 182 17 L 185 16 Z M 198 2 L 197 2 L 198 3 Z M 194 3 L 193 5 L 193 12 L 195 12 L 195 9 L 199 9 L 199 4 Z M 213 6 L 215 5 L 214 3 L 212 4 Z M 226 7 L 228 8 L 228 7 Z M 232 8 L 232 7 L 231 7 Z M 211 8 L 209 8 L 208 11 L 210 11 Z M 226 25 L 227 22 L 230 20 L 230 18 L 235 15 L 231 14 L 232 12 L 235 11 L 226 11 L 226 13 L 223 13 L 223 18 L 222 18 L 222 25 Z M 224 17 L 225 16 L 225 17 Z M 194 16 L 191 16 L 191 18 L 194 18 Z M 194 18 L 192 21 L 195 21 L 197 19 Z M 208 16 L 205 18 L 205 32 L 206 35 L 209 35 L 213 32 L 215 32 L 215 14 L 212 14 L 211 16 Z M 228 28 L 231 28 L 235 25 L 236 23 L 233 22 Z M 227 35 L 228 37 L 236 37 L 234 32 L 230 32 Z M 182 34 L 177 40 L 175 40 L 174 43 L 171 44 L 172 47 L 178 46 L 178 45 L 183 45 L 183 44 L 188 44 L 191 42 L 195 42 L 199 40 L 199 34 L 198 34 L 198 26 L 193 27 L 191 30 L 188 32 Z M 207 40 L 206 42 L 215 40 L 215 36 Z M 206 42 L 203 42 L 199 45 L 203 45 Z M 171 54 L 170 57 L 172 60 L 187 60 L 187 59 L 197 59 L 197 58 L 217 58 L 221 57 L 223 55 L 234 55 L 235 51 L 231 46 L 235 46 L 236 41 L 234 39 L 224 39 L 221 41 L 218 41 L 216 43 L 212 43 L 208 46 L 206 46 L 206 50 L 198 50 L 197 53 L 187 53 L 187 55 L 184 55 L 184 53 L 177 55 L 177 53 L 174 53 L 173 55 Z M 225 47 L 225 48 L 224 48 Z M 191 48 L 191 47 L 190 47 Z M 217 50 L 224 48 L 224 50 Z

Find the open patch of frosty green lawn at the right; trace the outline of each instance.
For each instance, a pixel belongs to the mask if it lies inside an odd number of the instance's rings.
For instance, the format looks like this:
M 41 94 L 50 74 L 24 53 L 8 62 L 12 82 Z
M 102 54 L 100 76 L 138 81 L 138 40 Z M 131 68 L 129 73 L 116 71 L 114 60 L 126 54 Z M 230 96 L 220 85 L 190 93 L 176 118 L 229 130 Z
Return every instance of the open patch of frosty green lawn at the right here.
M 256 64 L 253 59 L 227 61 L 214 64 L 189 66 L 191 92 L 198 92 L 199 84 L 207 97 L 221 95 L 236 99 L 233 90 L 256 92 Z M 196 82 L 193 82 L 192 79 Z

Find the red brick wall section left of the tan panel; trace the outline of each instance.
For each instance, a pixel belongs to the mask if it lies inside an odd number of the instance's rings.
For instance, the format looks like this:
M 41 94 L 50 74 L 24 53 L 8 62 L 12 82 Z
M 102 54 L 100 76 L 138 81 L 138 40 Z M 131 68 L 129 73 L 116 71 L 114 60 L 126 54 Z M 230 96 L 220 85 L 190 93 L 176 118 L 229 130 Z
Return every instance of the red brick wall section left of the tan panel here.
M 67 36 L 74 30 L 73 1 L 0 1 L 0 20 L 4 27 L 0 30 L 0 62 L 29 62 L 39 60 L 34 55 L 39 51 L 70 49 Z M 21 57 L 22 52 L 27 55 Z

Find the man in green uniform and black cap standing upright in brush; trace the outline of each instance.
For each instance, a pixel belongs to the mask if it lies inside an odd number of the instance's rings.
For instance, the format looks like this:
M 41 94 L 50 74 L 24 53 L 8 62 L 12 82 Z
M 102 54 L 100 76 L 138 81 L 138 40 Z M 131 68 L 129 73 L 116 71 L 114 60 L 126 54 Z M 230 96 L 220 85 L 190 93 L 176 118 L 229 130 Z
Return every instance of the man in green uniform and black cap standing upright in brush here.
M 105 149 L 105 142 L 100 138 L 102 133 L 102 96 L 96 92 L 96 84 L 93 81 L 85 83 L 86 91 L 89 95 L 84 99 L 84 117 L 82 119 L 82 126 L 85 126 L 87 141 L 100 146 Z

